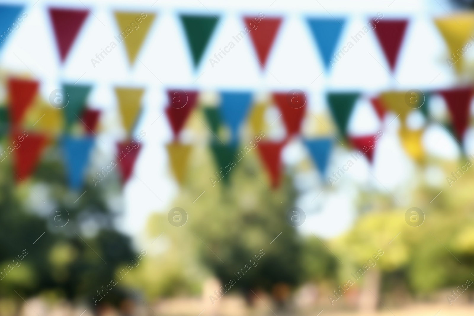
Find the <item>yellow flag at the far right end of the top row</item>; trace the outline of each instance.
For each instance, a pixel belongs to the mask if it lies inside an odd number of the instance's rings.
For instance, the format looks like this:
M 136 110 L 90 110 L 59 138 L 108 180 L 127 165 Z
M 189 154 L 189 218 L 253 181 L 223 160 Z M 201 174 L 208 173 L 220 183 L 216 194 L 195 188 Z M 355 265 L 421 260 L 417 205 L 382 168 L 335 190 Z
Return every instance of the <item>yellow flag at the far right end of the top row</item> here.
M 461 52 L 461 56 L 463 55 L 462 48 L 470 41 L 469 37 L 473 35 L 474 16 L 472 14 L 462 14 L 454 17 L 449 16 L 448 18 L 436 18 L 435 24 L 449 49 L 449 60 L 454 63 L 456 72 L 461 72 L 464 59 L 459 58 L 458 53 Z M 450 67 L 451 63 L 449 64 Z

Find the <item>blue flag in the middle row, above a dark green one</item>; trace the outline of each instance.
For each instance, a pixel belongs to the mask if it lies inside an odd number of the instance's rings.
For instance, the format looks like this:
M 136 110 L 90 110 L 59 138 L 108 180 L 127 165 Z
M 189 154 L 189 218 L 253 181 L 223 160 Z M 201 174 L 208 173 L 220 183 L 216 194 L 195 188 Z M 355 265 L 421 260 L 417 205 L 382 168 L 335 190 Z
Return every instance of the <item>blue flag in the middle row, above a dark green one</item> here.
M 252 94 L 250 92 L 222 92 L 221 98 L 220 115 L 230 128 L 231 140 L 235 140 L 238 127 L 250 107 Z

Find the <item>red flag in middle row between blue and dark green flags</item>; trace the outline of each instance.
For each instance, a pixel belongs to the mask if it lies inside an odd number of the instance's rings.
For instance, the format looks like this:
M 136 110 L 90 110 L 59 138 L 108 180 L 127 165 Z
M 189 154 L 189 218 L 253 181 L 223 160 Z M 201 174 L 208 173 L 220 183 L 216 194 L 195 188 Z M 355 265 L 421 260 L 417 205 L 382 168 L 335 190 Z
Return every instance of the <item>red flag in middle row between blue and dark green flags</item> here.
M 288 136 L 300 133 L 301 122 L 306 109 L 306 100 L 304 102 L 301 101 L 300 105 L 298 103 L 293 104 L 292 98 L 287 93 L 273 93 L 273 99 L 280 112 L 282 112 Z

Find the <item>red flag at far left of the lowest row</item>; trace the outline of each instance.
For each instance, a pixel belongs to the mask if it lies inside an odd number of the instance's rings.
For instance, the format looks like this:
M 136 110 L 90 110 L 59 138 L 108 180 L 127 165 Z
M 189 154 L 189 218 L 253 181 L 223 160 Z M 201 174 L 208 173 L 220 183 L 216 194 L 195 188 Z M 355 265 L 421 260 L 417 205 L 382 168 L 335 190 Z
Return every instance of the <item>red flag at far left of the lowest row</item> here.
M 13 171 L 17 174 L 17 181 L 26 180 L 36 168 L 41 152 L 46 145 L 46 136 L 32 132 L 11 133 L 13 149 Z M 18 144 L 18 145 L 16 145 Z

